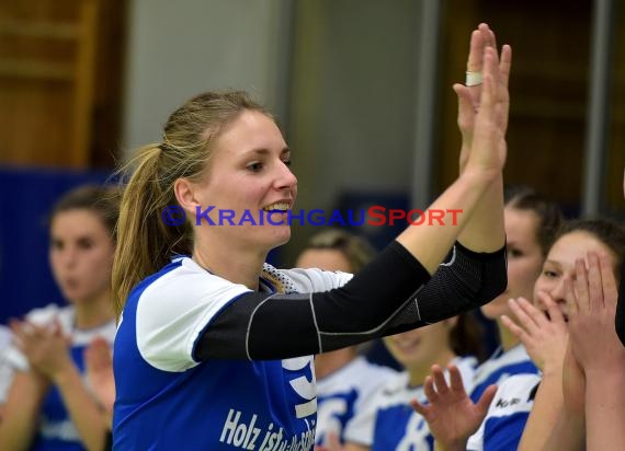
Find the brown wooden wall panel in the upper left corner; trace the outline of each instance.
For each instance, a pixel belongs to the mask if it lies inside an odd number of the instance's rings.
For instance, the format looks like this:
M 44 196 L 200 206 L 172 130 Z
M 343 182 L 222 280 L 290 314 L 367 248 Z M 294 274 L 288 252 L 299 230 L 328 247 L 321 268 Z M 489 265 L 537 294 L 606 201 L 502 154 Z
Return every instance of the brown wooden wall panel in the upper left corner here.
M 118 141 L 120 132 L 124 19 L 125 1 L 0 4 L 0 163 L 112 165 L 111 142 Z M 115 39 L 121 45 L 110 46 Z M 101 104 L 113 106 L 96 115 Z M 105 132 L 95 134 L 102 129 L 98 120 L 106 118 Z

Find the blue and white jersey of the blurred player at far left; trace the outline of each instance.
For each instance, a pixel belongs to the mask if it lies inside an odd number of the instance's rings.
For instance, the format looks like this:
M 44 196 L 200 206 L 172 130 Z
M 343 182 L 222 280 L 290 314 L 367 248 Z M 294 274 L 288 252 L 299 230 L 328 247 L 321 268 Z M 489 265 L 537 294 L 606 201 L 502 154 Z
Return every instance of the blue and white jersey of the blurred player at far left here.
M 115 321 L 111 320 L 99 327 L 80 329 L 76 327 L 76 312 L 73 305 L 58 307 L 49 304 L 43 309 L 35 309 L 26 315 L 26 320 L 32 323 L 44 325 L 52 324 L 57 317 L 64 333 L 71 337 L 71 359 L 78 371 L 82 374 L 83 382 L 87 382 L 84 374 L 83 354 L 89 344 L 95 337 L 102 337 L 113 346 L 115 338 Z M 27 371 L 29 361 L 25 356 L 15 347 L 11 347 L 7 354 L 8 360 L 18 371 Z M 71 423 L 59 390 L 53 385 L 42 403 L 39 416 L 39 428 L 33 441 L 31 451 L 73 451 L 83 450 L 78 430 Z

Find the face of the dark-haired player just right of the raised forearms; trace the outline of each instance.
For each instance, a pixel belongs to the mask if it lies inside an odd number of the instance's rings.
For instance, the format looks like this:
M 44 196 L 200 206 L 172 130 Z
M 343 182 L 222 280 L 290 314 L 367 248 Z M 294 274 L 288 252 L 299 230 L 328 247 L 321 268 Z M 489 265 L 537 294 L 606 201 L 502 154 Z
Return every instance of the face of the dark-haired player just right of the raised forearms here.
M 536 239 L 538 217 L 531 210 L 505 207 L 505 247 L 508 253 L 508 287 L 504 292 L 486 305 L 481 312 L 495 320 L 510 315 L 510 298 L 532 298 L 534 282 L 541 274 L 543 253 Z

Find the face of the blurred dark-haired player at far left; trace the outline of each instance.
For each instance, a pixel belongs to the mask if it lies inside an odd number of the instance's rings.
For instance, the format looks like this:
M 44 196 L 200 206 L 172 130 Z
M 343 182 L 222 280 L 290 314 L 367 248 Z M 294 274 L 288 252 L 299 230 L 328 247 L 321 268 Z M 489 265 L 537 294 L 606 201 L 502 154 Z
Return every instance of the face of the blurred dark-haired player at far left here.
M 49 261 L 57 285 L 72 303 L 109 292 L 115 246 L 100 217 L 88 209 L 54 216 Z

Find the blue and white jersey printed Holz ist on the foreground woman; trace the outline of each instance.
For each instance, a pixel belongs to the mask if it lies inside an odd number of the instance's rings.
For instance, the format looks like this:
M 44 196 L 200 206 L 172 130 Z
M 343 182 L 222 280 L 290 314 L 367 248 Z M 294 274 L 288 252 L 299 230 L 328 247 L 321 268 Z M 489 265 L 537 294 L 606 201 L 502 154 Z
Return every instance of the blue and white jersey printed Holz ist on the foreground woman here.
M 260 287 L 285 293 L 326 291 L 351 277 L 265 265 Z M 312 449 L 312 356 L 201 362 L 193 358 L 212 321 L 249 291 L 179 257 L 130 292 L 113 352 L 114 449 Z

